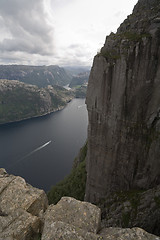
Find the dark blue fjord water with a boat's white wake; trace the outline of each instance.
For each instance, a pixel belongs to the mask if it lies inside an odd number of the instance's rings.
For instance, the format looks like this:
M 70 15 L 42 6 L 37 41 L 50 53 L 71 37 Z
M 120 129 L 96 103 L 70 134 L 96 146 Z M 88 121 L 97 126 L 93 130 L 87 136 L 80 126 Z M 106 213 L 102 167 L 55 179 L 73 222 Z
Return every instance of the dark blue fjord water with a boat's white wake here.
M 70 172 L 87 125 L 84 99 L 44 117 L 1 125 L 0 167 L 47 191 Z

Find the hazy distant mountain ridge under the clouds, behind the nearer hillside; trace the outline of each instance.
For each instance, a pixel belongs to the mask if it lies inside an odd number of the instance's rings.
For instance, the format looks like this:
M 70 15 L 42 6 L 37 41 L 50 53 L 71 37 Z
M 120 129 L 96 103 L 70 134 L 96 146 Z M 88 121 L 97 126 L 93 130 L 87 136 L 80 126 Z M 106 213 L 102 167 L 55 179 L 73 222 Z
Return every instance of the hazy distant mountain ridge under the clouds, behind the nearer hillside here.
M 18 80 L 38 87 L 46 87 L 48 85 L 67 85 L 71 81 L 71 76 L 66 73 L 64 68 L 56 65 L 0 65 L 0 79 Z

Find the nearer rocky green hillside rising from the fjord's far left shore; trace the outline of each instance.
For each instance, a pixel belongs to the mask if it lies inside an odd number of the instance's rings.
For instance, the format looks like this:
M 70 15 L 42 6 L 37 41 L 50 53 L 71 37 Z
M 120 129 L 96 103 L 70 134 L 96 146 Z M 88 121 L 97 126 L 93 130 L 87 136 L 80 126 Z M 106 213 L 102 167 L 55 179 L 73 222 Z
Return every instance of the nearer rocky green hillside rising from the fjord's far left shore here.
M 60 86 L 38 88 L 17 80 L 0 80 L 0 124 L 62 109 L 73 93 Z

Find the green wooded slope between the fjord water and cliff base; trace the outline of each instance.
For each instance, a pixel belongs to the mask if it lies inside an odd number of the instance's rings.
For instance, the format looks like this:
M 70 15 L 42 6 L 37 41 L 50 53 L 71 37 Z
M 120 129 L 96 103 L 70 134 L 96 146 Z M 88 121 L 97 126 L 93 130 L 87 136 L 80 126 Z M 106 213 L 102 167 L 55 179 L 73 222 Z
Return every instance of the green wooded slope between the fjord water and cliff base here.
M 77 200 L 84 200 L 86 185 L 86 158 L 87 143 L 80 150 L 80 154 L 74 161 L 71 173 L 48 192 L 49 204 L 56 204 L 61 197 L 74 197 Z

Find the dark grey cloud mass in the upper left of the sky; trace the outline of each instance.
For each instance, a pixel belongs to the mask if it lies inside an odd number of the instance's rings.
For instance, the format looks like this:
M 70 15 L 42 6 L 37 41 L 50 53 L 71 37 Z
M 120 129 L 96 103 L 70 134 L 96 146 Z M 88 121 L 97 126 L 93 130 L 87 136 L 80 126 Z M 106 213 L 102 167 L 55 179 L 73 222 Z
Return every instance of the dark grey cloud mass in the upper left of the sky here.
M 0 1 L 1 52 L 53 54 L 53 26 L 43 0 Z

